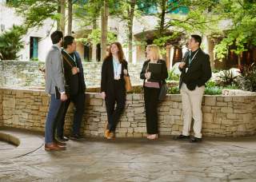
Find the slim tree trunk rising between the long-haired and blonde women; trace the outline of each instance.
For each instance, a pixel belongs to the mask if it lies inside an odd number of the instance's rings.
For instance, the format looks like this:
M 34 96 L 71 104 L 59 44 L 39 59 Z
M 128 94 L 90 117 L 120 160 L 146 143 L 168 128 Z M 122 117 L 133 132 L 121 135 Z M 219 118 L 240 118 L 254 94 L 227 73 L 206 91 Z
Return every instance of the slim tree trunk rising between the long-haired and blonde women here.
M 130 7 L 128 8 L 129 20 L 128 20 L 128 61 L 133 61 L 133 24 L 134 24 L 134 8 L 136 0 L 130 1 Z

